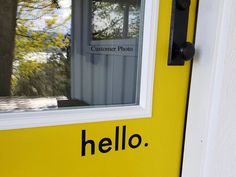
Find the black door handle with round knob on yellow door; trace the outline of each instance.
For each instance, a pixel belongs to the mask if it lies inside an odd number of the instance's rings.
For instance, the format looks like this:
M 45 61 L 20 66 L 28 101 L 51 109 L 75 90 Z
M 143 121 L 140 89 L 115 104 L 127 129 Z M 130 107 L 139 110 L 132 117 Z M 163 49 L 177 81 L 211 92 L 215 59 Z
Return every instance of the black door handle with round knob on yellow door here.
M 187 42 L 191 0 L 173 0 L 168 65 L 184 65 L 192 60 L 195 47 Z

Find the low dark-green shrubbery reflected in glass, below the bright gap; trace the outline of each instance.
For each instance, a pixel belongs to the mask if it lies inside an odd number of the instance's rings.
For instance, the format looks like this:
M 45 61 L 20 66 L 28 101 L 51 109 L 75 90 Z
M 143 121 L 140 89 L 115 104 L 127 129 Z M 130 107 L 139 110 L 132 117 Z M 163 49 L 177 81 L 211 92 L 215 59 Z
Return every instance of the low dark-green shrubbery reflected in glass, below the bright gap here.
M 45 63 L 22 61 L 14 75 L 17 96 L 69 96 L 69 60 L 55 52 Z

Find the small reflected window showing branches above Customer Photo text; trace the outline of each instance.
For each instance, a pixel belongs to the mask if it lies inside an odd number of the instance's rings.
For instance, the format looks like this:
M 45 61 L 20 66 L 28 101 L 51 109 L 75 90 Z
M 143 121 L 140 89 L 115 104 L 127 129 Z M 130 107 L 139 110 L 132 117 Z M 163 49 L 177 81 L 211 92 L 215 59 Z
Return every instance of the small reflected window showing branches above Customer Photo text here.
M 139 23 L 140 0 L 92 1 L 93 40 L 138 37 Z

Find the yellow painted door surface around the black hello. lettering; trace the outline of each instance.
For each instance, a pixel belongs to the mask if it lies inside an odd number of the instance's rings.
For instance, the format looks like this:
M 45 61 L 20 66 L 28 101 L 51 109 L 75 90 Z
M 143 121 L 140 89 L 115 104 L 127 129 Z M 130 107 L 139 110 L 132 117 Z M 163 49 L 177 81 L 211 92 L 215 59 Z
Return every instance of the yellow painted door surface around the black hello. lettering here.
M 189 41 L 194 32 L 195 10 L 196 0 L 192 0 Z M 178 177 L 190 63 L 184 67 L 167 66 L 170 16 L 171 0 L 160 0 L 151 119 L 0 131 L 0 177 Z M 116 151 L 117 126 L 120 144 Z M 125 150 L 121 147 L 123 126 L 127 131 Z M 86 155 L 81 155 L 82 130 L 86 130 L 86 140 L 95 141 L 94 155 L 89 145 Z M 136 149 L 128 145 L 133 134 L 142 137 Z M 112 150 L 101 153 L 98 143 L 105 137 L 112 139 Z

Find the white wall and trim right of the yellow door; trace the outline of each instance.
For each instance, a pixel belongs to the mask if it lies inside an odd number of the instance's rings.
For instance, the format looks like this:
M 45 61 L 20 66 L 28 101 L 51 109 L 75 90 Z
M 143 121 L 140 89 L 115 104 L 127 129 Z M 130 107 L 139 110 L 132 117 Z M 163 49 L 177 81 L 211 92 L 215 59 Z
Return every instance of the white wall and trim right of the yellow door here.
M 183 177 L 236 177 L 236 1 L 200 0 Z

